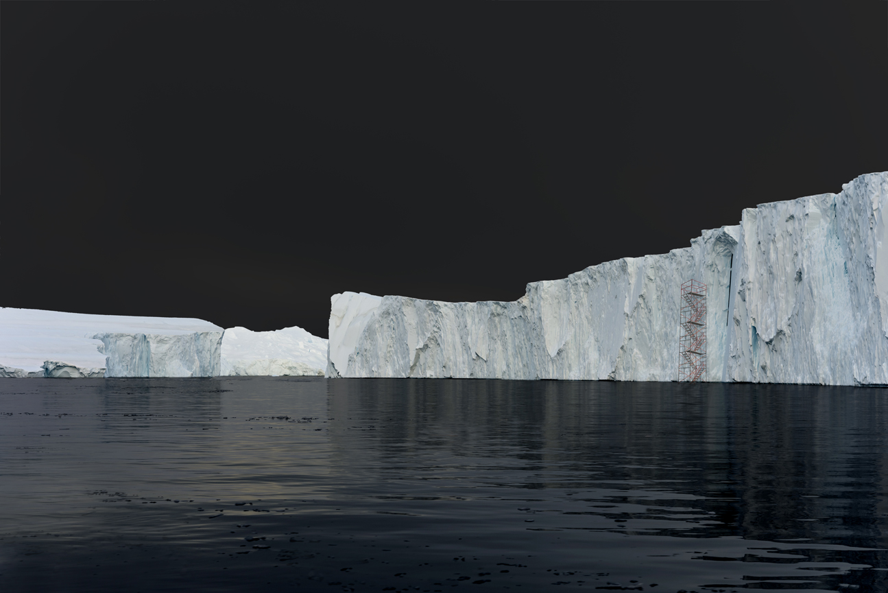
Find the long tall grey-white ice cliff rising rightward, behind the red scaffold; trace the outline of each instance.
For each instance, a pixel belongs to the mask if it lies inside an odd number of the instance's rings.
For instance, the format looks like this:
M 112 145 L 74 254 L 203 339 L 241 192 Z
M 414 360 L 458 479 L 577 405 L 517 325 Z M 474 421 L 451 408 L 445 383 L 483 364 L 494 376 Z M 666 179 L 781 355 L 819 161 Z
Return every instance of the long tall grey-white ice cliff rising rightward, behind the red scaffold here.
M 888 384 L 888 172 L 760 204 L 691 246 L 512 302 L 331 298 L 330 377 L 676 381 L 680 284 L 708 284 L 705 381 Z

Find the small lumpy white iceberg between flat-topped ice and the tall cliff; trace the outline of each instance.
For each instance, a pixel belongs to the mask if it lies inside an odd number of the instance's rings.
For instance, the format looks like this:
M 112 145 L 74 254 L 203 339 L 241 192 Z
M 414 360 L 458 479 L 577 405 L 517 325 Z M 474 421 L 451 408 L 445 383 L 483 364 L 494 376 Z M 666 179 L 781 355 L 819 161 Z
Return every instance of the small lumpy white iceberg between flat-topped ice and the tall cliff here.
M 327 341 L 301 327 L 274 332 L 226 329 L 222 337 L 223 375 L 322 375 Z

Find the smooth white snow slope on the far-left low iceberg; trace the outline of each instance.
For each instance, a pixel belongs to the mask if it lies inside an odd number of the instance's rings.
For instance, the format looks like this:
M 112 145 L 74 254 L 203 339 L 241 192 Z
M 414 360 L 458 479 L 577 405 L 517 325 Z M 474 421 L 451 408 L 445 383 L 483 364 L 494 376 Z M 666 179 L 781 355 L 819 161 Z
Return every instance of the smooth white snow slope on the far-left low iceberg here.
M 202 319 L 185 317 L 134 317 L 65 313 L 42 309 L 0 308 L 0 365 L 28 373 L 40 371 L 47 360 L 83 368 L 103 368 L 102 342 L 97 333 L 180 335 L 221 332 Z

